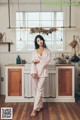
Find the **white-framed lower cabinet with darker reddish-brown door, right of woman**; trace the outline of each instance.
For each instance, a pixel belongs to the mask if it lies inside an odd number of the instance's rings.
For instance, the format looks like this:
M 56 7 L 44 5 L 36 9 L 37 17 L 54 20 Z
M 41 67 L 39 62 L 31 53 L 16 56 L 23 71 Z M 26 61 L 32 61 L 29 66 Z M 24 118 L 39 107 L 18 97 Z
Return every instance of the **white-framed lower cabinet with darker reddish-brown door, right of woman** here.
M 64 101 L 75 101 L 74 66 L 56 66 L 56 98 Z

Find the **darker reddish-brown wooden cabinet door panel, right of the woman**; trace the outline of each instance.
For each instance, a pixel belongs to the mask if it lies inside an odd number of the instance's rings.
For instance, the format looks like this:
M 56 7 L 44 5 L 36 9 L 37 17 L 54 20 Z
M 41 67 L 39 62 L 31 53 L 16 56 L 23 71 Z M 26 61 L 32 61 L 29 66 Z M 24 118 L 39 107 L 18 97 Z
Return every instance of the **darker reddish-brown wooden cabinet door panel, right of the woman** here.
M 58 95 L 72 95 L 72 69 L 58 69 Z

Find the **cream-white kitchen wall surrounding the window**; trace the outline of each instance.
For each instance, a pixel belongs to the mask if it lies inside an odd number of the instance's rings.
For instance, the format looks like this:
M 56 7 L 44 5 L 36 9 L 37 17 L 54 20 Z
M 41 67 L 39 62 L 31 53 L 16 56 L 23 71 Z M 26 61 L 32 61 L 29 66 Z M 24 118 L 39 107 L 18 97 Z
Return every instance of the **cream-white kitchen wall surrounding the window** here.
M 20 11 L 64 11 L 64 26 L 69 25 L 69 7 L 68 6 L 53 6 L 46 5 L 44 3 L 46 0 L 42 0 L 41 9 L 40 9 L 40 0 L 20 0 Z M 54 0 L 55 1 L 55 0 Z M 32 3 L 33 2 L 33 3 Z M 11 8 L 11 26 L 16 25 L 15 13 L 18 11 L 18 3 L 16 0 L 10 0 Z M 69 43 L 73 39 L 73 35 L 80 36 L 80 6 L 72 6 L 72 15 L 71 15 L 71 25 L 76 26 L 73 28 L 64 29 L 64 52 L 71 52 Z M 1 66 L 1 77 L 5 75 L 5 64 L 16 63 L 16 56 L 19 54 L 21 58 L 26 59 L 27 62 L 30 62 L 31 53 L 17 53 L 16 52 L 16 31 L 13 29 L 8 29 L 8 4 L 7 0 L 0 0 L 0 32 L 6 33 L 6 39 L 12 40 L 13 45 L 11 45 L 11 52 L 8 52 L 8 45 L 0 45 L 0 66 Z M 52 53 L 52 60 L 60 54 Z M 1 94 L 4 94 L 4 81 L 1 81 Z

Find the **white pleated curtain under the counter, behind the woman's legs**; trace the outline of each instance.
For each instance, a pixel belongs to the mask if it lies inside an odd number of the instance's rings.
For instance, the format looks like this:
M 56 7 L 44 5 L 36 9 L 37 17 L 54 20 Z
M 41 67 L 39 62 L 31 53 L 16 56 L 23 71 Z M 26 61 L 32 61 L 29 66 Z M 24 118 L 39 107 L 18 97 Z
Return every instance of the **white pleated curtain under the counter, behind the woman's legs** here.
M 24 97 L 34 97 L 34 83 L 29 73 L 25 73 Z M 44 85 L 44 97 L 55 97 L 55 74 L 49 73 Z

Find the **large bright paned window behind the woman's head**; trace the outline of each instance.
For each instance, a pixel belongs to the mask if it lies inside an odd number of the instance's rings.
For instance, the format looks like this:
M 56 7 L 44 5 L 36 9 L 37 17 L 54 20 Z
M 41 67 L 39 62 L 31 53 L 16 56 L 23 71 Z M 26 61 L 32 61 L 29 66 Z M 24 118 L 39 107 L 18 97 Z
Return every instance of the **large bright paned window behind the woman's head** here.
M 50 26 L 63 26 L 63 12 L 16 12 L 16 27 Z M 16 29 L 16 51 L 32 51 L 37 34 L 30 34 L 30 29 Z M 52 34 L 41 35 L 49 49 L 63 51 L 63 29 L 58 28 Z

